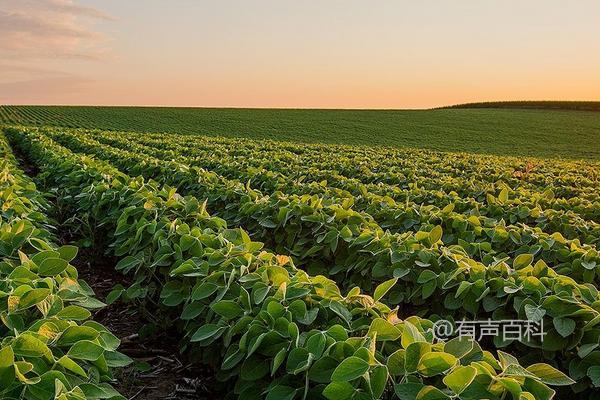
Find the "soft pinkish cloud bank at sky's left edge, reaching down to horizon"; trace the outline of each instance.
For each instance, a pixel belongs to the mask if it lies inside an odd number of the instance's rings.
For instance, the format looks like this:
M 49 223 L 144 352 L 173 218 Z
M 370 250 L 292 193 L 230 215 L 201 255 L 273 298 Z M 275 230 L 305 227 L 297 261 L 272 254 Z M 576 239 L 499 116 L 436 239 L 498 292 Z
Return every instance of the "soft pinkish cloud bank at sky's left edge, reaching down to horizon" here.
M 83 93 L 93 80 L 63 71 L 62 63 L 106 59 L 108 39 L 94 24 L 113 20 L 70 0 L 0 0 L 0 103 Z

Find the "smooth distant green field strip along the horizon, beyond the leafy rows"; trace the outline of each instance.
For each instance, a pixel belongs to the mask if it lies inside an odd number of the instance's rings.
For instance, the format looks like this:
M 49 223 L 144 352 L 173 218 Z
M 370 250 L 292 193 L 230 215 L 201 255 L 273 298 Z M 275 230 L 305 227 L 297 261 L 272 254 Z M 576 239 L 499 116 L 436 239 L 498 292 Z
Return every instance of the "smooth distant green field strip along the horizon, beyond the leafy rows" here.
M 600 112 L 2 106 L 0 122 L 600 160 Z

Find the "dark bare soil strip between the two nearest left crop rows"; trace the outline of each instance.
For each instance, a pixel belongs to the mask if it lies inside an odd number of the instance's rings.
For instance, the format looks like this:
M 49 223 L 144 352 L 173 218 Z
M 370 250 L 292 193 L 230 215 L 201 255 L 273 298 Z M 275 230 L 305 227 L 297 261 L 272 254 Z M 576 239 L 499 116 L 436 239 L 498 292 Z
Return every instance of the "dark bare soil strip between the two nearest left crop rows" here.
M 41 171 L 27 157 L 12 147 L 20 168 L 30 177 Z M 43 188 L 42 188 L 43 189 Z M 51 201 L 54 199 L 50 199 Z M 53 215 L 57 222 L 57 236 L 61 244 L 76 244 L 78 233 L 61 229 L 67 218 L 64 210 L 55 204 Z M 113 287 L 127 287 L 130 278 L 117 272 L 118 259 L 103 253 L 104 246 L 79 246 L 72 261 L 79 278 L 104 301 Z M 223 384 L 215 379 L 215 372 L 206 365 L 193 362 L 180 353 L 180 334 L 173 327 L 161 328 L 157 310 L 142 304 L 117 301 L 93 313 L 92 319 L 121 340 L 119 351 L 134 362 L 115 371 L 113 387 L 129 400 L 215 400 L 224 398 Z

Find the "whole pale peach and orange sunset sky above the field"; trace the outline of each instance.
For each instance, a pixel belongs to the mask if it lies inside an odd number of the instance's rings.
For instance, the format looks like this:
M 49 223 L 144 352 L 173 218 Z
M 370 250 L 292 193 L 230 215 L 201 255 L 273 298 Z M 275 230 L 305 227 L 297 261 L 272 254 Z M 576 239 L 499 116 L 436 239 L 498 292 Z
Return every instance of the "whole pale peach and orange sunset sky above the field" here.
M 600 2 L 0 0 L 0 104 L 600 100 Z

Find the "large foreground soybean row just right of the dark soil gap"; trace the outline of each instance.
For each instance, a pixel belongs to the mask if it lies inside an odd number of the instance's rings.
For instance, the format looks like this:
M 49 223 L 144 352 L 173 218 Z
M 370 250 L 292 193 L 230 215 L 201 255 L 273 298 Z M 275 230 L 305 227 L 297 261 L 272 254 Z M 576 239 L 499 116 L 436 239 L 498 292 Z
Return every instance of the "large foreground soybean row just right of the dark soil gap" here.
M 182 311 L 190 342 L 236 382 L 244 399 L 549 399 L 543 381 L 570 384 L 546 364 L 525 369 L 476 342 L 433 339 L 432 322 L 399 319 L 373 296 L 346 295 L 331 280 L 262 250 L 241 229 L 227 229 L 194 197 L 132 179 L 109 164 L 60 147 L 34 130 L 11 140 L 77 213 L 110 233 L 118 268 L 136 276 L 127 295 L 158 294 Z

